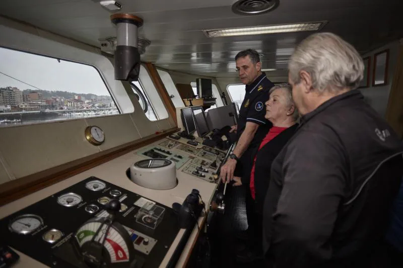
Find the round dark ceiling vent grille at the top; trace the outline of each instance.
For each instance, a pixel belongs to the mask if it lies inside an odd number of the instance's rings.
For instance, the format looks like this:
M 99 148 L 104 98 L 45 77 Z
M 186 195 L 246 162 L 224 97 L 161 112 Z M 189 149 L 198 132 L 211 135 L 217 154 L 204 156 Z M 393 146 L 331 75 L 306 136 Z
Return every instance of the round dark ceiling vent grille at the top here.
M 232 12 L 239 15 L 260 15 L 275 10 L 280 0 L 238 0 L 232 5 Z

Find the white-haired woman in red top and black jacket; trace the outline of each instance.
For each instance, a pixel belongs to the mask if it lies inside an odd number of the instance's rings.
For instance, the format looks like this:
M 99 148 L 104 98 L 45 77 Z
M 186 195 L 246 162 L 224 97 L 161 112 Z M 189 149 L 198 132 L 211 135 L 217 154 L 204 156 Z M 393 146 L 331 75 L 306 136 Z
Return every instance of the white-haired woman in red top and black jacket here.
M 246 210 L 250 215 L 248 219 L 253 219 L 252 222 L 248 221 L 248 224 L 252 225 L 248 227 L 252 243 L 250 247 L 247 247 L 246 251 L 237 254 L 238 261 L 252 261 L 253 256 L 261 255 L 262 207 L 268 183 L 270 182 L 272 161 L 298 127 L 296 120 L 299 115 L 295 108 L 291 91 L 292 87 L 288 83 L 275 85 L 269 91 L 270 98 L 265 103 L 266 114 L 264 118 L 272 122 L 273 127 L 261 141 L 260 146 L 251 153 L 250 180 L 247 180 L 248 178 L 243 178 L 242 180 L 249 182 L 250 192 L 246 193 L 246 198 L 249 201 L 246 204 L 251 204 L 251 206 L 247 205 Z M 240 177 L 234 177 L 234 181 L 233 186 L 242 185 Z M 254 249 L 254 251 L 250 251 L 251 249 Z

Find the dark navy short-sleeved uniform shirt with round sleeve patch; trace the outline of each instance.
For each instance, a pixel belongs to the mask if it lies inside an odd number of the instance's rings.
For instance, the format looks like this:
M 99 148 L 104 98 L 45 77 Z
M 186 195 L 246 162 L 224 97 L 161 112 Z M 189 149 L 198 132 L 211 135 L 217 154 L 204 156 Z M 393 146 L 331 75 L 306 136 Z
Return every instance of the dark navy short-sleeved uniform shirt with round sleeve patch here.
M 268 91 L 274 86 L 265 73 L 257 77 L 253 83 L 245 86 L 245 98 L 239 110 L 239 120 L 237 128 L 237 140 L 245 130 L 246 122 L 259 125 L 250 145 L 259 144 L 267 131 L 272 127 L 272 123 L 264 118 L 266 114 L 265 102 L 268 100 Z

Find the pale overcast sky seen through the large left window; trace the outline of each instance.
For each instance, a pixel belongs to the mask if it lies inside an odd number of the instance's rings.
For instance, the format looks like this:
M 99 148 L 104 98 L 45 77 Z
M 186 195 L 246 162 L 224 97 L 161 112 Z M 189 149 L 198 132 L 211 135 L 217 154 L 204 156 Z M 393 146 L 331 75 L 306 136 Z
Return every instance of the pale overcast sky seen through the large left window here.
M 0 72 L 48 91 L 109 95 L 98 71 L 89 65 L 58 62 L 54 58 L 0 47 Z M 0 73 L 0 87 L 13 86 L 19 90 L 37 88 Z

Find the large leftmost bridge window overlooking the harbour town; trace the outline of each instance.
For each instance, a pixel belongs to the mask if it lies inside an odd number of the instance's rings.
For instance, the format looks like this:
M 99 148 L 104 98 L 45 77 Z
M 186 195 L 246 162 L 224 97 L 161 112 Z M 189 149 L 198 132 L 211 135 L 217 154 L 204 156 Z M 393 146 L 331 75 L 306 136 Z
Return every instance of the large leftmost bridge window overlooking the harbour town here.
M 0 47 L 0 127 L 119 114 L 91 65 Z

